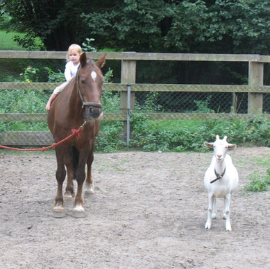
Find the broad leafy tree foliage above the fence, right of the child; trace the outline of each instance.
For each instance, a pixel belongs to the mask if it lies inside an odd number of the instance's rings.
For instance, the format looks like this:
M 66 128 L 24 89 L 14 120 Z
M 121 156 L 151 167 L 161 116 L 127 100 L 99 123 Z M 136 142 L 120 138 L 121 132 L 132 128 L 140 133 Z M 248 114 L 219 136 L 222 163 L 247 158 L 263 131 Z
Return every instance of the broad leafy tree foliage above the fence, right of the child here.
M 115 1 L 82 17 L 99 46 L 128 51 L 269 53 L 267 1 Z

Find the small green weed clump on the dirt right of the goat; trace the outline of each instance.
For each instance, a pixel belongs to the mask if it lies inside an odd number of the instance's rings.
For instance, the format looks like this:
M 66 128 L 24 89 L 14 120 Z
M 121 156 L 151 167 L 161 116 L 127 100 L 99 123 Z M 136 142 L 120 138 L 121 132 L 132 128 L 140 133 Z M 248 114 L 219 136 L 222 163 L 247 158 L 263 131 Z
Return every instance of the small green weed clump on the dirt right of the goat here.
M 254 171 L 248 176 L 250 183 L 246 184 L 246 191 L 267 191 L 270 184 L 270 176 L 262 175 L 258 171 Z

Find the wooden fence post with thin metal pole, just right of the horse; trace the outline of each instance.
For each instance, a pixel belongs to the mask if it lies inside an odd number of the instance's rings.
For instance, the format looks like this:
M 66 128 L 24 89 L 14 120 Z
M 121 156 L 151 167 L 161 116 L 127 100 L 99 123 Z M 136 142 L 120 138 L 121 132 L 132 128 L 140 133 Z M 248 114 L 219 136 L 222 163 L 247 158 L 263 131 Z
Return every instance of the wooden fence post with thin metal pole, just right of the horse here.
M 136 61 L 135 60 L 121 60 L 121 83 L 129 85 L 136 82 Z M 128 98 L 129 97 L 129 98 Z M 129 113 L 130 110 L 134 110 L 135 104 L 135 92 L 130 92 L 128 96 L 127 92 L 121 92 L 120 95 L 120 110 L 127 115 L 127 121 L 124 123 L 124 132 L 126 132 L 126 146 L 129 144 L 130 125 L 129 125 Z M 128 107 L 129 105 L 129 107 Z M 126 110 L 126 111 L 125 111 Z

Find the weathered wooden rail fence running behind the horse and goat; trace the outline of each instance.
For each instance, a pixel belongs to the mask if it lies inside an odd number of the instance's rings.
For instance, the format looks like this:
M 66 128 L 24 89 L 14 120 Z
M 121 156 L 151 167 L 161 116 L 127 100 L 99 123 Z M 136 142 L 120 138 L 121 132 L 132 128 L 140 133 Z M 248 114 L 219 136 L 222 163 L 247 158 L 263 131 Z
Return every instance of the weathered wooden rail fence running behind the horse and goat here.
M 98 59 L 104 53 L 87 53 L 87 57 Z M 65 59 L 63 51 L 0 51 L 0 58 L 17 59 Z M 270 94 L 270 86 L 263 85 L 264 63 L 270 62 L 268 55 L 228 55 L 199 53 L 107 53 L 107 60 L 121 60 L 121 83 L 105 84 L 103 90 L 121 92 L 120 112 L 105 114 L 104 120 L 127 121 L 129 110 L 135 107 L 136 92 L 245 92 L 248 94 L 247 114 L 214 114 L 211 119 L 250 119 L 262 114 L 263 96 Z M 141 60 L 164 61 L 218 61 L 248 62 L 248 85 L 176 85 L 176 84 L 136 84 L 136 63 Z M 0 89 L 44 89 L 52 90 L 56 83 L 4 83 Z M 128 94 L 128 86 L 130 93 Z M 130 99 L 128 100 L 128 96 Z M 0 101 L 1 103 L 1 101 Z M 128 105 L 129 104 L 129 105 Z M 205 119 L 209 114 L 194 113 L 151 113 L 149 119 Z M 0 121 L 46 121 L 47 114 L 0 114 Z M 40 139 L 42 137 L 42 139 Z M 1 145 L 48 145 L 52 138 L 49 132 L 1 132 Z

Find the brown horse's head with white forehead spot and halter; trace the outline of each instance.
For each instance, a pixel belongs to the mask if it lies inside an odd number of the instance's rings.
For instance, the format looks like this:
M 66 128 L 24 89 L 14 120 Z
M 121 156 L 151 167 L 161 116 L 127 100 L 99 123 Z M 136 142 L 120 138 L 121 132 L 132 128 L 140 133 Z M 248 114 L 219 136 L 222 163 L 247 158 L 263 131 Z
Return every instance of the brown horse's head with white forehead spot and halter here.
M 85 53 L 80 57 L 80 67 L 76 76 L 78 96 L 81 99 L 84 119 L 98 119 L 101 116 L 101 90 L 106 54 L 97 62 L 87 60 Z

